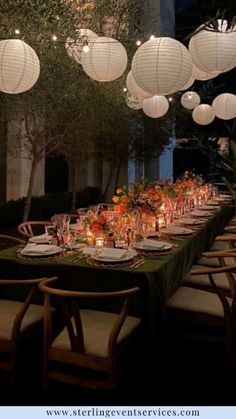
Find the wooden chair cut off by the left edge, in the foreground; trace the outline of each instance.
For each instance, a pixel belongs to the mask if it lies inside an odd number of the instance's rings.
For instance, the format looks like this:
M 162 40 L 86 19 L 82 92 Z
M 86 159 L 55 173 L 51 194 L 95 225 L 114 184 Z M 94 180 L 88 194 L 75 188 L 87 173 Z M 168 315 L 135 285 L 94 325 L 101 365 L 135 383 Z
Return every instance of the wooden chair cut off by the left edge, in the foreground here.
M 30 336 L 36 326 L 43 324 L 43 306 L 32 303 L 38 284 L 43 279 L 0 279 L 0 369 L 10 371 L 11 386 L 16 384 L 20 343 Z M 12 291 L 20 287 L 26 298 L 23 302 L 4 298 L 6 287 Z

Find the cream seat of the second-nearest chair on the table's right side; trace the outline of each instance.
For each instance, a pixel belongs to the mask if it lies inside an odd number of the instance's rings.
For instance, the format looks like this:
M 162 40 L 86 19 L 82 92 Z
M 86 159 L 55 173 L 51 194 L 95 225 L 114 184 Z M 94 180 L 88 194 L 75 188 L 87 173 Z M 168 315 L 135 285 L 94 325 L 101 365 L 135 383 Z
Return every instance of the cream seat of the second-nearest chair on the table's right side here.
M 205 268 L 205 266 L 202 265 L 194 265 L 192 266 L 192 269 L 201 269 L 201 268 Z M 235 279 L 236 276 L 235 274 L 233 274 Z M 218 274 L 213 274 L 213 279 L 215 281 L 215 284 L 217 286 L 217 288 L 223 289 L 223 290 L 230 290 L 230 285 L 229 285 L 229 281 L 227 279 L 227 276 L 224 272 L 222 273 L 218 273 Z M 202 275 L 191 275 L 191 272 L 189 272 L 183 279 L 182 282 L 183 285 L 198 285 L 198 286 L 202 286 L 202 287 L 210 287 L 211 284 L 209 282 L 209 277 L 207 274 L 202 274 Z

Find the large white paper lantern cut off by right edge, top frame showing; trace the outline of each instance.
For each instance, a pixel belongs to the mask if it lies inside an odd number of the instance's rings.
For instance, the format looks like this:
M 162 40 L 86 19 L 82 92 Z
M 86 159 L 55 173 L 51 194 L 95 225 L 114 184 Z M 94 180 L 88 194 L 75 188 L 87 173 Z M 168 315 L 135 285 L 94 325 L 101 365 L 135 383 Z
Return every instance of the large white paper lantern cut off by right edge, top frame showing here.
M 236 65 L 235 28 L 227 30 L 227 21 L 219 19 L 218 31 L 212 27 L 200 30 L 189 42 L 193 63 L 203 71 L 228 71 Z

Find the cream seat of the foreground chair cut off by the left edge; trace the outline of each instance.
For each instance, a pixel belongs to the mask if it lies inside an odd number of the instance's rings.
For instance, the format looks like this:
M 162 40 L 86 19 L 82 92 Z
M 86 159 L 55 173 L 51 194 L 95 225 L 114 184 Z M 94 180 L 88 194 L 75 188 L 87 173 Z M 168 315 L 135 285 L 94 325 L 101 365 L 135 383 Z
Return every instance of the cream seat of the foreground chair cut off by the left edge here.
M 0 300 L 0 340 L 11 340 L 12 327 L 22 303 L 19 301 Z M 31 304 L 23 318 L 21 332 L 43 320 L 43 306 Z

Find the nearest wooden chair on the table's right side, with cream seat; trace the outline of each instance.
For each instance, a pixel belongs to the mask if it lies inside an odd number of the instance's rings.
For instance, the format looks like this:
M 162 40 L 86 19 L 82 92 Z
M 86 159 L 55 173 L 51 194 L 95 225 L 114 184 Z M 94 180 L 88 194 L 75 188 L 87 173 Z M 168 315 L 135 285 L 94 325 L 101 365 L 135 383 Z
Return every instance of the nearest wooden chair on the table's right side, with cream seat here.
M 221 268 L 195 269 L 192 275 L 207 275 L 214 292 L 180 286 L 167 302 L 167 313 L 172 336 L 221 342 L 228 355 L 229 371 L 235 368 L 235 296 L 233 275 L 227 275 L 231 297 L 226 297 L 215 282 L 214 275 L 233 274 L 236 264 Z

